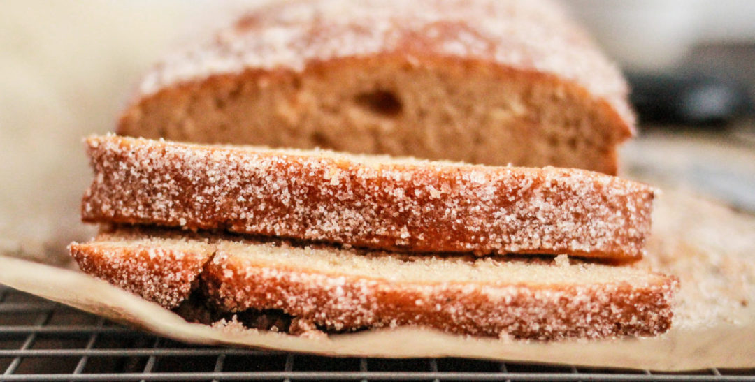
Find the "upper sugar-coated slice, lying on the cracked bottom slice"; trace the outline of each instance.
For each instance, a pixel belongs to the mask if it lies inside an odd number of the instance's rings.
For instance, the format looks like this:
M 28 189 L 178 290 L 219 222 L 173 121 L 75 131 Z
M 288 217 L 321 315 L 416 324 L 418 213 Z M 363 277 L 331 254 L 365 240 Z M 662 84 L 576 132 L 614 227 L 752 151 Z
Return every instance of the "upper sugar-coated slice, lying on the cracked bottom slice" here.
M 636 260 L 654 189 L 590 171 L 87 140 L 88 222 L 181 226 L 362 248 Z

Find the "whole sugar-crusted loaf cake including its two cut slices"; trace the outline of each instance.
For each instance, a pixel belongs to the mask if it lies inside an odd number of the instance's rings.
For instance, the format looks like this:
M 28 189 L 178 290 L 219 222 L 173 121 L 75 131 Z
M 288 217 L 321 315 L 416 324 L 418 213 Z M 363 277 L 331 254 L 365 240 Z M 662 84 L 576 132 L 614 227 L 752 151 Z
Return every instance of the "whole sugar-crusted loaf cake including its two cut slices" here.
M 633 262 L 656 190 L 612 176 L 627 87 L 548 0 L 276 2 L 138 89 L 119 135 L 86 140 L 100 234 L 69 251 L 188 320 L 525 340 L 671 325 L 678 280 Z

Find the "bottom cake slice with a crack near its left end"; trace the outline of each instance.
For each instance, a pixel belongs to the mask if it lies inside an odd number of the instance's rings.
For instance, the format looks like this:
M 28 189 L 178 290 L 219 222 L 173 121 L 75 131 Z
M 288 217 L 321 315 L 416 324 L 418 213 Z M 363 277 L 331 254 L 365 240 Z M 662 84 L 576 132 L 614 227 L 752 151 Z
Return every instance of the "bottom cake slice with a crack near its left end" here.
M 164 305 L 175 259 L 202 254 L 203 270 L 186 273 L 202 280 L 197 288 L 211 305 L 280 310 L 325 331 L 412 325 L 538 340 L 649 336 L 669 328 L 677 288 L 673 277 L 565 257 L 413 256 L 183 235 L 117 230 L 70 249 L 85 272 Z M 134 253 L 155 256 L 124 266 Z

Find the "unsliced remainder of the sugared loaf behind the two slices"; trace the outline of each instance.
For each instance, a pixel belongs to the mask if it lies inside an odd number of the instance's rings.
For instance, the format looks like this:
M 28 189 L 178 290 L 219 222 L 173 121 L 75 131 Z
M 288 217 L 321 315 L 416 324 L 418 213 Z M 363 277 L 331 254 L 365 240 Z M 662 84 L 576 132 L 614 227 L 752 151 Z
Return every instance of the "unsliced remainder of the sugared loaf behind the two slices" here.
M 552 2 L 315 0 L 165 57 L 118 132 L 615 174 L 633 124 L 621 73 Z

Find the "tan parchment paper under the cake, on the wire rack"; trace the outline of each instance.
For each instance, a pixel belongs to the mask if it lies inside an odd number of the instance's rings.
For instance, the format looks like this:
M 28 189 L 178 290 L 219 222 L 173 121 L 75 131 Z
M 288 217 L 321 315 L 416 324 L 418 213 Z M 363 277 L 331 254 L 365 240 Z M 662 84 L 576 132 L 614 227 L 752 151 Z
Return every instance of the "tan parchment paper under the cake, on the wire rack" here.
M 655 208 L 649 254 L 636 266 L 679 276 L 673 328 L 660 337 L 538 343 L 418 328 L 308 338 L 184 321 L 76 270 L 0 257 L 0 282 L 81 310 L 193 343 L 335 356 L 461 356 L 575 365 L 690 370 L 755 367 L 755 219 L 683 193 Z

